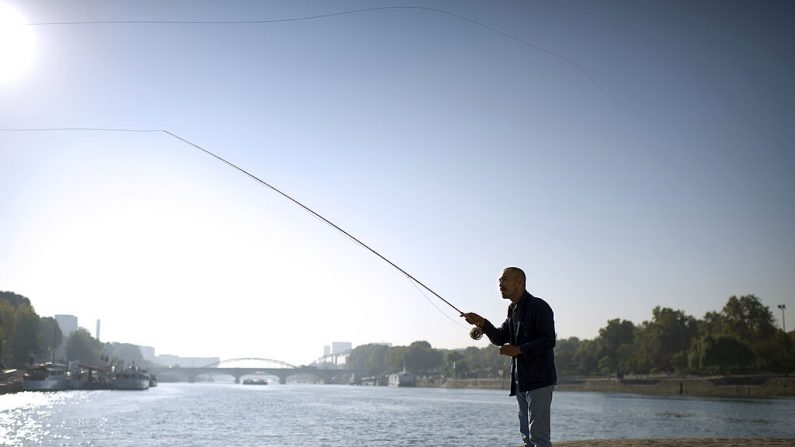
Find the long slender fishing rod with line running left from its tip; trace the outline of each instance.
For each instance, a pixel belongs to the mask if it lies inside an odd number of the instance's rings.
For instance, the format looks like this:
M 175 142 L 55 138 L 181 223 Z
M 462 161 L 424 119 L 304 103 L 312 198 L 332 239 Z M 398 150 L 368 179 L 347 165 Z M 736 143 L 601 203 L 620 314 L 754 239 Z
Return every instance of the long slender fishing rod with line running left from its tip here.
M 266 187 L 270 188 L 272 191 L 274 191 L 274 192 L 278 193 L 278 194 L 279 194 L 279 195 L 281 195 L 282 197 L 284 197 L 284 198 L 288 199 L 289 201 L 291 201 L 291 202 L 293 202 L 294 204 L 298 205 L 299 207 L 303 208 L 305 211 L 309 212 L 309 213 L 310 213 L 310 214 L 312 214 L 313 216 L 315 216 L 315 217 L 317 217 L 318 219 L 322 220 L 322 221 L 323 221 L 323 222 L 325 222 L 326 224 L 328 224 L 328 225 L 330 225 L 330 226 L 334 227 L 334 228 L 335 228 L 335 229 L 337 229 L 339 232 L 341 232 L 342 234 L 344 234 L 345 236 L 347 236 L 348 238 L 350 238 L 351 240 L 353 240 L 353 241 L 354 241 L 354 242 L 356 242 L 357 244 L 361 245 L 362 247 L 366 248 L 366 249 L 367 249 L 367 250 L 369 250 L 371 253 L 373 253 L 374 255 L 378 256 L 378 257 L 379 257 L 379 258 L 381 258 L 383 261 L 385 261 L 386 263 L 388 263 L 389 265 L 391 265 L 392 267 L 394 267 L 395 269 L 397 269 L 399 272 L 401 272 L 401 273 L 403 273 L 404 275 L 406 275 L 406 277 L 407 277 L 407 278 L 409 278 L 411 281 L 413 281 L 413 282 L 415 283 L 415 287 L 416 287 L 416 284 L 419 284 L 419 285 L 420 285 L 420 286 L 422 286 L 422 287 L 423 287 L 425 290 L 427 290 L 428 292 L 431 292 L 431 293 L 432 293 L 434 296 L 436 296 L 436 298 L 440 299 L 442 302 L 444 302 L 444 303 L 445 303 L 445 304 L 447 304 L 448 306 L 452 307 L 452 308 L 453 308 L 453 309 L 454 309 L 456 312 L 458 312 L 458 313 L 459 313 L 459 315 L 462 315 L 462 316 L 464 315 L 464 313 L 463 313 L 461 310 L 459 310 L 457 307 L 455 307 L 455 306 L 454 306 L 453 304 L 451 304 L 449 301 L 447 301 L 446 299 L 444 299 L 444 298 L 443 298 L 441 295 L 439 295 L 438 293 L 436 293 L 436 292 L 435 292 L 433 289 L 431 289 L 430 287 L 426 286 L 426 285 L 425 285 L 425 284 L 424 284 L 422 281 L 418 280 L 418 279 L 417 279 L 417 278 L 415 278 L 413 275 L 411 275 L 411 274 L 410 274 L 410 273 L 408 273 L 407 271 L 405 271 L 405 270 L 403 270 L 402 268 L 400 268 L 400 267 L 399 267 L 397 264 L 395 264 L 394 262 L 392 262 L 392 261 L 390 261 L 389 259 L 387 259 L 387 258 L 386 258 L 384 255 L 382 255 L 381 253 L 377 252 L 377 251 L 376 251 L 376 250 L 374 250 L 372 247 L 370 247 L 369 245 L 365 244 L 364 242 L 362 242 L 361 240 L 359 240 L 358 238 L 356 238 L 355 236 L 353 236 L 351 233 L 349 233 L 349 232 L 345 231 L 344 229 L 342 229 L 341 227 L 339 227 L 339 226 L 338 226 L 337 224 L 335 224 L 334 222 L 332 222 L 332 221 L 330 221 L 330 220 L 326 219 L 325 217 L 321 216 L 320 214 L 318 214 L 317 212 L 315 212 L 315 211 L 314 211 L 312 208 L 309 208 L 308 206 L 306 206 L 306 205 L 304 205 L 303 203 L 299 202 L 298 200 L 294 199 L 293 197 L 291 197 L 290 195 L 288 195 L 288 194 L 287 194 L 287 193 L 285 193 L 284 191 L 282 191 L 282 190 L 280 190 L 280 189 L 276 188 L 275 186 L 271 185 L 270 183 L 268 183 L 268 182 L 266 182 L 266 181 L 262 180 L 261 178 L 257 177 L 256 175 L 252 174 L 251 172 L 249 172 L 249 171 L 247 171 L 247 170 L 245 170 L 245 169 L 241 168 L 240 166 L 238 166 L 238 165 L 236 165 L 236 164 L 234 164 L 234 163 L 230 162 L 229 160 L 227 160 L 227 159 L 225 159 L 225 158 L 223 158 L 223 157 L 221 157 L 221 156 L 219 156 L 219 155 L 217 155 L 217 154 L 215 154 L 215 153 L 213 153 L 213 152 L 211 152 L 211 151 L 209 151 L 209 150 L 205 149 L 204 147 L 202 147 L 202 146 L 200 146 L 200 145 L 198 145 L 198 144 L 196 144 L 196 143 L 194 143 L 194 142 L 192 142 L 192 141 L 190 141 L 190 140 L 187 140 L 187 139 L 185 139 L 185 138 L 182 138 L 182 137 L 181 137 L 181 136 L 179 136 L 179 135 L 176 135 L 176 134 L 174 134 L 174 133 L 172 133 L 172 132 L 169 132 L 168 130 L 165 130 L 165 129 L 124 129 L 124 128 L 107 128 L 107 127 L 49 127 L 49 128 L 17 128 L 17 129 L 0 129 L 0 132 L 57 132 L 57 131 L 95 131 L 95 132 L 160 132 L 160 133 L 164 133 L 164 134 L 166 134 L 166 135 L 169 135 L 169 136 L 171 136 L 172 138 L 175 138 L 175 139 L 177 139 L 177 140 L 179 140 L 179 141 L 181 141 L 181 142 L 183 142 L 183 143 L 185 143 L 185 144 L 187 144 L 187 145 L 189 145 L 189 146 L 191 146 L 191 147 L 193 147 L 193 148 L 195 148 L 195 149 L 197 149 L 197 150 L 200 150 L 200 151 L 204 152 L 205 154 L 207 154 L 207 155 L 209 155 L 209 156 L 211 156 L 211 157 L 213 157 L 213 158 L 215 158 L 215 159 L 217 159 L 217 160 L 219 160 L 219 161 L 221 161 L 221 162 L 225 163 L 226 165 L 228 165 L 228 166 L 230 166 L 230 167 L 232 167 L 232 168 L 236 169 L 237 171 L 239 171 L 239 172 L 241 172 L 241 173 L 243 173 L 243 174 L 247 175 L 247 176 L 248 176 L 248 177 L 250 177 L 251 179 L 253 179 L 253 180 L 255 180 L 256 182 L 260 183 L 261 185 L 263 185 L 263 186 L 266 186 Z M 425 294 L 423 294 L 423 296 L 425 296 Z M 428 299 L 428 298 L 427 298 L 427 296 L 426 296 L 425 298 L 426 298 L 426 299 Z M 429 300 L 429 301 L 430 301 L 430 300 Z M 436 306 L 434 306 L 434 307 L 436 307 Z M 439 309 L 438 309 L 438 307 L 437 307 L 437 310 L 439 310 Z M 439 311 L 441 312 L 441 310 L 439 310 Z M 444 312 L 442 312 L 442 314 L 443 314 L 443 315 L 445 315 L 447 318 L 450 318 L 450 317 L 449 317 L 447 314 L 445 314 Z

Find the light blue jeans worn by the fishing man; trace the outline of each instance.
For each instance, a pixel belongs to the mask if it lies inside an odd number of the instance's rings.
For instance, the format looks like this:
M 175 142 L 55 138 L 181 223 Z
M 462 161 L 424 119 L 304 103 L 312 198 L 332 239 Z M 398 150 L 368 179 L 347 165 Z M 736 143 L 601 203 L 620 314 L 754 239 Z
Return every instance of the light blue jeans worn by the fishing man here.
M 552 406 L 552 391 L 555 385 L 545 386 L 533 391 L 516 393 L 519 402 L 519 431 L 522 441 L 528 447 L 551 447 L 549 410 Z

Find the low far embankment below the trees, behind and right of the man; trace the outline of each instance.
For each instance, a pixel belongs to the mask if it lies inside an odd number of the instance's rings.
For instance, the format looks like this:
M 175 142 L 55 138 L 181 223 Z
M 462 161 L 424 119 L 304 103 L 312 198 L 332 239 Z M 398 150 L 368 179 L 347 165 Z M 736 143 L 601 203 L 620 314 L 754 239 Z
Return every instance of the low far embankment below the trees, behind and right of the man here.
M 418 386 L 440 386 L 423 383 Z M 448 379 L 444 388 L 480 388 L 507 390 L 507 379 Z M 561 379 L 557 391 L 592 391 L 601 393 L 635 393 L 698 397 L 795 397 L 795 377 L 722 376 L 722 377 L 643 377 L 609 379 Z

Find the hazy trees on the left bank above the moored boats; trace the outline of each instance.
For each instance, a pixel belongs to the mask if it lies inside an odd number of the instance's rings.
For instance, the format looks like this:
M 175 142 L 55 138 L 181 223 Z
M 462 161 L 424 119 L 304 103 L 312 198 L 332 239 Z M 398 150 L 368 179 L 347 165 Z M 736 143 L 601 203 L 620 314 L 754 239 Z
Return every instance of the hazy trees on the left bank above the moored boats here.
M 64 337 L 58 322 L 52 317 L 39 317 L 28 298 L 0 291 L 0 365 L 24 368 L 47 361 L 150 366 L 138 346 L 101 343 L 83 328 Z

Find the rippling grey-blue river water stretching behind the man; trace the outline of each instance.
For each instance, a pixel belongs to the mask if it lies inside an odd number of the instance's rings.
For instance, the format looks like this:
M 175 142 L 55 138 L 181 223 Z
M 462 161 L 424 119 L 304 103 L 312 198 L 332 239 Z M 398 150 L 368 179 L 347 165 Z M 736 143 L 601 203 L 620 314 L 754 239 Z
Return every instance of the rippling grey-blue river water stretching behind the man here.
M 795 399 L 555 392 L 553 441 L 795 437 Z M 164 383 L 0 396 L 3 446 L 515 446 L 505 391 Z

